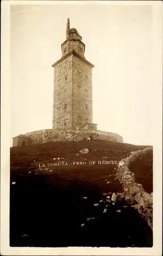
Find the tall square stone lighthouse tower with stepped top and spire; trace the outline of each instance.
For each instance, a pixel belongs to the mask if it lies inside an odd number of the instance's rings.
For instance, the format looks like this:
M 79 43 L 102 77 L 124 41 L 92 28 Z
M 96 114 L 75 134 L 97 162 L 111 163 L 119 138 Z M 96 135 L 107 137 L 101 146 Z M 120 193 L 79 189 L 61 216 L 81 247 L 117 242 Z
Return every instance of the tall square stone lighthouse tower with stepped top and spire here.
M 85 58 L 85 44 L 67 19 L 62 57 L 55 62 L 53 89 L 53 129 L 83 129 L 92 123 L 92 68 Z

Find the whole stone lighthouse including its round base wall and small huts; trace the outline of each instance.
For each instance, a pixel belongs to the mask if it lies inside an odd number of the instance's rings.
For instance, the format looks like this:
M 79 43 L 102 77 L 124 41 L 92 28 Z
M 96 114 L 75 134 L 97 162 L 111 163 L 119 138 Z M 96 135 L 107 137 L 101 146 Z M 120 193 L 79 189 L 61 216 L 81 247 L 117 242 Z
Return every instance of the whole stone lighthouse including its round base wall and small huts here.
M 53 84 L 52 129 L 40 130 L 13 138 L 13 146 L 48 141 L 98 139 L 123 143 L 115 133 L 97 130 L 93 123 L 92 68 L 85 58 L 85 44 L 67 19 L 66 40 L 61 45 L 62 56 L 55 62 Z

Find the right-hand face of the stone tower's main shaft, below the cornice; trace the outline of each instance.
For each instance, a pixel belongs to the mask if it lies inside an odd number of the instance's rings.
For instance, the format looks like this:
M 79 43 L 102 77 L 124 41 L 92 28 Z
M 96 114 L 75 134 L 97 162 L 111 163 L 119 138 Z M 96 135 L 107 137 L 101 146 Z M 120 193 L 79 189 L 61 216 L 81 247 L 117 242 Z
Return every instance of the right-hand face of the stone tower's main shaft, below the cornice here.
M 76 56 L 72 59 L 73 130 L 92 123 L 92 68 Z

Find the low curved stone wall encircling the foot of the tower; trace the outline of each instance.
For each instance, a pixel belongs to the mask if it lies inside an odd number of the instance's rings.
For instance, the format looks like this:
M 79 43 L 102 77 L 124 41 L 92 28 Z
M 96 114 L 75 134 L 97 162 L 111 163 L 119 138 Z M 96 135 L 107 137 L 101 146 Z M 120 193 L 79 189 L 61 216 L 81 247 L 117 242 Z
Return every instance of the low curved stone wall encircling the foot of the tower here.
M 26 133 L 25 136 L 30 137 L 34 144 L 46 143 L 49 141 L 71 141 L 92 138 L 94 140 L 107 140 L 123 143 L 123 138 L 118 134 L 106 133 L 102 131 L 72 131 L 72 130 L 40 130 Z

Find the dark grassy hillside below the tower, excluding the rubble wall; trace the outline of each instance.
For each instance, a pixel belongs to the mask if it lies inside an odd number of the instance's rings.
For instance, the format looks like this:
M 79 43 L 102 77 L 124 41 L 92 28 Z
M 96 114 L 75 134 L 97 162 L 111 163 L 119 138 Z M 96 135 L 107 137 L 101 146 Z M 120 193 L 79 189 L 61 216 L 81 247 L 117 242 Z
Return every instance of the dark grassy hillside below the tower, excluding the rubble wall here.
M 109 141 L 11 148 L 10 246 L 152 246 L 152 231 L 125 201 L 116 167 L 136 146 Z M 131 172 L 152 192 L 152 154 Z

